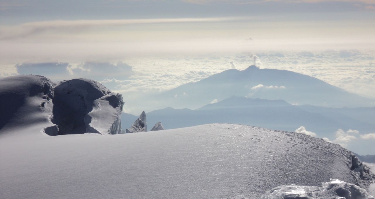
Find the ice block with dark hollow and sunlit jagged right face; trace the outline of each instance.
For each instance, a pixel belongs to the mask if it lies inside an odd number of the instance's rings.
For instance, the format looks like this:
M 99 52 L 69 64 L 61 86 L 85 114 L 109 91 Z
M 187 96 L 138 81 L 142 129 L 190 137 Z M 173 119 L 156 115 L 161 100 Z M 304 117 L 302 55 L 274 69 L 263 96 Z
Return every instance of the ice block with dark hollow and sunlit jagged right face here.
M 54 89 L 52 122 L 58 135 L 121 133 L 121 94 L 84 78 L 61 81 Z

